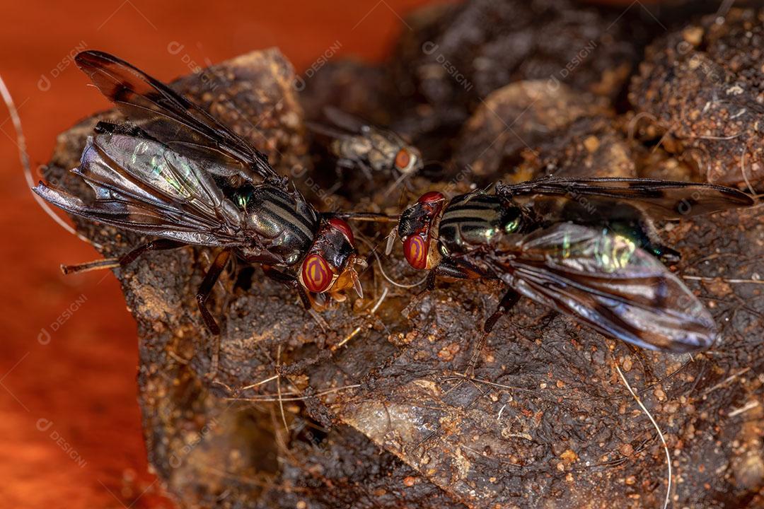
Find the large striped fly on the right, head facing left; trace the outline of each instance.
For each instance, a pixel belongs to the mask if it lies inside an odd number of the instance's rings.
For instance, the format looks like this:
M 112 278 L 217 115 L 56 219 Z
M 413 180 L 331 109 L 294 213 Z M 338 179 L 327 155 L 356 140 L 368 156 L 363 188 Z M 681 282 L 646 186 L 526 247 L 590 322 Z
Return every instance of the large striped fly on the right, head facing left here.
M 390 236 L 416 269 L 453 279 L 499 279 L 509 290 L 485 324 L 521 295 L 610 337 L 652 350 L 711 346 L 716 325 L 659 259 L 650 217 L 681 219 L 753 205 L 736 189 L 652 179 L 554 179 L 497 184 L 447 201 L 429 192 L 400 215 Z

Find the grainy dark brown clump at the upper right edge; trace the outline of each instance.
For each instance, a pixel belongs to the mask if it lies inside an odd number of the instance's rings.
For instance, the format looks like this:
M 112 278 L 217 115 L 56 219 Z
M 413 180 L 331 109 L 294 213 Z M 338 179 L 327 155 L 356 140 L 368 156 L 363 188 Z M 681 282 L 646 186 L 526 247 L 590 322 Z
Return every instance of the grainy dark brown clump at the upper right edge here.
M 643 129 L 710 182 L 764 182 L 764 9 L 707 16 L 653 43 L 629 98 Z M 745 172 L 745 176 L 743 176 Z

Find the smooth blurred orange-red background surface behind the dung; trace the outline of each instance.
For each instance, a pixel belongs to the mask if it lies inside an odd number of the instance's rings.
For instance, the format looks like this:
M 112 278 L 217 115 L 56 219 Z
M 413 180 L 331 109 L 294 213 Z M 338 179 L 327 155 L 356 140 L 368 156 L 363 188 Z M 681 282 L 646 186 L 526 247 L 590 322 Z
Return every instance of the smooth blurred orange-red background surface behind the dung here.
M 115 53 L 165 81 L 189 73 L 186 53 L 204 66 L 275 46 L 305 69 L 338 40 L 340 56 L 380 60 L 406 29 L 398 17 L 425 3 L 4 1 L 0 72 L 37 166 L 49 159 L 57 134 L 108 108 L 73 64 L 62 63 L 78 46 Z M 183 51 L 168 52 L 173 42 Z M 53 70 L 59 65 L 62 71 Z M 47 90 L 37 86 L 42 76 Z M 170 507 L 147 473 L 136 330 L 118 283 L 110 272 L 61 275 L 60 263 L 97 255 L 34 202 L 5 108 L 0 122 L 0 505 Z M 37 340 L 43 328 L 50 343 Z

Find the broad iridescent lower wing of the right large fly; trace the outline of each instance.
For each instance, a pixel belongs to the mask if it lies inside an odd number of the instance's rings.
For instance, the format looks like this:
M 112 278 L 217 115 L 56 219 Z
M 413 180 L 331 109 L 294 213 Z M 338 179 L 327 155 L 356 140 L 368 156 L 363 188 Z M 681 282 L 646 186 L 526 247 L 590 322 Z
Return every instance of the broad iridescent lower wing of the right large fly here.
M 711 314 L 680 279 L 619 235 L 559 223 L 488 263 L 526 297 L 636 346 L 691 352 L 717 338 Z

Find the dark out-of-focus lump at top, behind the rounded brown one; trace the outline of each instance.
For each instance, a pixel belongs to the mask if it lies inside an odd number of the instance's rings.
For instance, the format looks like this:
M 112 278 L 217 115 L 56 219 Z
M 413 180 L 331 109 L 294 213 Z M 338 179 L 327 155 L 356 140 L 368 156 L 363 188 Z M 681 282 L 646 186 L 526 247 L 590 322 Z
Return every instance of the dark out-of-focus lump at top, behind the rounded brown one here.
M 635 14 L 550 0 L 422 11 L 387 66 L 402 98 L 397 127 L 441 157 L 444 136 L 507 83 L 546 80 L 615 99 L 641 51 L 645 22 Z

